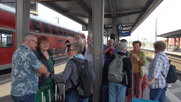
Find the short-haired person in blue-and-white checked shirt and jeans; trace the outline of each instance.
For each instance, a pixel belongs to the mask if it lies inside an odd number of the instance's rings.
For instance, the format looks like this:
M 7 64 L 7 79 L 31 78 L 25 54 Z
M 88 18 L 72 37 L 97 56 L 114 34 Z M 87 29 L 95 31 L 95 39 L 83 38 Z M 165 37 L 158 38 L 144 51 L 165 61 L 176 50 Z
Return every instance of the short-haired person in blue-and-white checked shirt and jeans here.
M 164 53 L 165 48 L 165 42 L 155 42 L 154 49 L 156 56 L 150 63 L 148 69 L 149 81 L 147 81 L 147 85 L 151 86 L 150 99 L 159 102 L 166 102 L 165 93 L 168 87 L 165 77 L 167 77 L 170 64 L 167 55 Z M 165 77 L 163 76 L 163 74 Z

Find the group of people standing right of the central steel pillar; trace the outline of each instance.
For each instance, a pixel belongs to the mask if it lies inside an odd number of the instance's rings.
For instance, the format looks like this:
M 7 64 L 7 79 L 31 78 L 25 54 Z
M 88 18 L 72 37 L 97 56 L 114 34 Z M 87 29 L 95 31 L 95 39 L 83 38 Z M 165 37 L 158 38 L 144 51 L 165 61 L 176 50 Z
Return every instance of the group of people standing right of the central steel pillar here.
M 105 47 L 105 64 L 102 77 L 102 102 L 125 102 L 126 93 L 130 98 L 141 98 L 144 76 L 144 65 L 147 62 L 146 55 L 141 51 L 141 42 L 132 43 L 133 50 L 127 50 L 127 41 L 122 39 L 117 45 L 114 40 L 109 40 L 109 45 Z M 150 86 L 150 100 L 166 102 L 166 90 L 168 84 L 162 73 L 167 76 L 169 70 L 169 59 L 164 53 L 166 44 L 163 41 L 157 41 L 153 45 L 155 49 L 155 58 L 150 63 L 148 69 L 148 81 L 145 84 Z M 115 55 L 126 55 L 123 61 L 123 71 L 126 75 L 122 82 L 109 82 L 109 65 L 115 59 Z M 128 83 L 126 83 L 126 80 Z M 135 89 L 136 86 L 136 89 Z M 136 96 L 134 96 L 136 94 Z M 128 99 L 128 100 L 131 100 Z

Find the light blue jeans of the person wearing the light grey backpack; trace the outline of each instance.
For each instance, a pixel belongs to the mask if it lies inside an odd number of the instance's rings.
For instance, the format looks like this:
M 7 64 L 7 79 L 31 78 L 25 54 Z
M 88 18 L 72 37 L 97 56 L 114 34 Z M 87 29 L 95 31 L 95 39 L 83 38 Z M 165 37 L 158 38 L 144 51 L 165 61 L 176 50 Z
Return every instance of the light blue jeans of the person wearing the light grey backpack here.
M 125 102 L 126 86 L 109 82 L 109 102 Z

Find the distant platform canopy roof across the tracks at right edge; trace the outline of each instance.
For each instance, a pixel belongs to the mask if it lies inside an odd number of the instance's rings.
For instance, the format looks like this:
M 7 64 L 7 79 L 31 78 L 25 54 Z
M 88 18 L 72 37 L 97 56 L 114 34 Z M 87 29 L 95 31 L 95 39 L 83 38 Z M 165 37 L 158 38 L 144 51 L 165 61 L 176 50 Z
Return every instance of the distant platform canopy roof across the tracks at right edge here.
M 178 37 L 181 37 L 181 29 L 175 30 L 172 32 L 168 32 L 168 33 L 164 33 L 164 34 L 160 34 L 160 35 L 157 35 L 157 37 L 178 38 Z

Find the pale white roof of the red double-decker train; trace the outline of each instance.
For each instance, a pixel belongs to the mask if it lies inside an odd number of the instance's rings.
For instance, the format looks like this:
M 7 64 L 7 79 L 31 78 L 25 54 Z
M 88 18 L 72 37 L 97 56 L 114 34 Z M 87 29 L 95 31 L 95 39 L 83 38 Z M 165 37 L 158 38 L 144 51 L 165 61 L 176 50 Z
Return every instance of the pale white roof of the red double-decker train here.
M 13 13 L 13 14 L 15 14 L 15 12 L 16 12 L 15 8 L 4 5 L 4 4 L 0 4 L 0 10 L 6 11 L 6 12 L 9 12 L 9 13 Z M 54 23 L 52 21 L 48 21 L 46 19 L 31 15 L 31 14 L 30 14 L 30 19 L 41 21 L 43 23 L 47 23 L 47 24 L 50 24 L 50 25 L 54 25 L 54 26 L 57 26 L 57 27 L 64 28 L 64 29 L 68 29 L 68 30 L 71 30 L 71 31 L 76 32 L 76 33 L 82 33 L 82 32 L 80 32 L 78 30 L 72 29 L 72 28 L 64 26 L 62 24 L 57 24 L 57 23 Z

